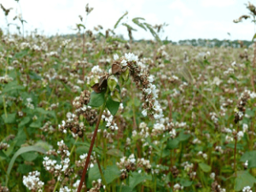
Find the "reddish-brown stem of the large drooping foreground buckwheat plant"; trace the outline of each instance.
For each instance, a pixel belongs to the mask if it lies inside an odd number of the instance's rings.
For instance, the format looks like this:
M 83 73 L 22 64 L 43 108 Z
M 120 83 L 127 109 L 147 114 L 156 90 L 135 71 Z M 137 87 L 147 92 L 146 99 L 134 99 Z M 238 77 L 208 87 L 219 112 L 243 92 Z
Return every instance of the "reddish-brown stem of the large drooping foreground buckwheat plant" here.
M 106 95 L 108 96 L 108 90 L 106 92 Z M 104 109 L 106 107 L 106 102 L 107 102 L 107 99 L 105 100 L 104 104 L 102 105 L 101 112 L 99 113 L 99 116 L 98 116 L 98 119 L 97 119 L 97 122 L 96 122 L 96 128 L 95 128 L 95 131 L 93 133 L 93 137 L 92 137 L 91 142 L 90 142 L 90 148 L 89 148 L 89 152 L 88 152 L 88 155 L 87 155 L 87 158 L 86 158 L 86 161 L 85 161 L 85 166 L 84 166 L 82 177 L 81 177 L 81 180 L 80 180 L 80 183 L 79 183 L 78 192 L 81 191 L 83 183 L 84 183 L 84 178 L 85 178 L 85 175 L 86 175 L 86 172 L 87 172 L 87 168 L 88 168 L 89 162 L 90 162 L 90 154 L 92 152 L 92 148 L 93 148 L 93 145 L 95 143 L 97 131 L 98 131 L 101 119 L 102 119 L 102 113 L 103 113 L 103 111 L 104 111 Z

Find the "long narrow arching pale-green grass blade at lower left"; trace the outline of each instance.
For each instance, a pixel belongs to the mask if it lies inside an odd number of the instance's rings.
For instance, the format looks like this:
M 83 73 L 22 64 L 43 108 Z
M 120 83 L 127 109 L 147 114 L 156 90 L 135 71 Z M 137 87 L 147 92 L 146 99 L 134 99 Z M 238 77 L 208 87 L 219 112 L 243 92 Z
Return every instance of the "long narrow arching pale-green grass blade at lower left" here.
M 8 186 L 9 174 L 12 171 L 12 168 L 15 164 L 15 160 L 17 159 L 17 157 L 20 154 L 24 154 L 24 153 L 30 152 L 30 151 L 37 151 L 39 153 L 46 154 L 46 150 L 44 148 L 40 148 L 38 146 L 28 146 L 28 147 L 23 147 L 23 148 L 20 148 L 19 150 L 17 150 L 16 153 L 14 154 L 14 156 L 12 157 L 12 159 L 9 162 L 9 166 L 8 166 L 8 169 L 7 169 L 7 175 L 6 175 L 6 182 L 5 182 L 6 186 Z

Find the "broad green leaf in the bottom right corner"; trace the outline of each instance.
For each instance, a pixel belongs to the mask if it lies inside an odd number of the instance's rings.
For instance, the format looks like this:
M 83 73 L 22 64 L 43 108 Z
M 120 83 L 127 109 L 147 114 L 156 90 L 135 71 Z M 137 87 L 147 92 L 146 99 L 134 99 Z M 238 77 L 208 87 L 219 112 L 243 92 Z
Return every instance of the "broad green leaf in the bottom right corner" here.
M 256 179 L 247 171 L 239 171 L 237 172 L 237 177 L 235 179 L 235 187 L 236 191 L 240 191 L 246 186 L 253 187 L 253 184 L 256 182 Z

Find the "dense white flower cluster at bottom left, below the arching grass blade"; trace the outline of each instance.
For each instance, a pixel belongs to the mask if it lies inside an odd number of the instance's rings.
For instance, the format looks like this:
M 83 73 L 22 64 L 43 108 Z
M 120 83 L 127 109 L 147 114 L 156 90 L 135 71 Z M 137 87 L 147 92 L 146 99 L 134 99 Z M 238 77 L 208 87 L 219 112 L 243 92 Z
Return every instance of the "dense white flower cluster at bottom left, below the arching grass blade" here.
M 23 176 L 23 184 L 29 189 L 33 191 L 41 191 L 43 192 L 44 182 L 40 181 L 40 172 L 29 172 L 28 176 Z

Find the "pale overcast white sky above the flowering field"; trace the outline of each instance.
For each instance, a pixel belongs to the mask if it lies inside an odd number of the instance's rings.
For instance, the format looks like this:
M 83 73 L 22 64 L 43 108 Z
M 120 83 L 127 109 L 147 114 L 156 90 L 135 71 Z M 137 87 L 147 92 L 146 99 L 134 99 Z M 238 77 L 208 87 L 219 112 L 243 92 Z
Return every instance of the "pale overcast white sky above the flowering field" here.
M 0 27 L 7 30 L 7 21 L 15 23 L 15 15 L 22 14 L 27 23 L 26 32 L 38 29 L 46 36 L 77 32 L 76 24 L 82 23 L 86 29 L 103 26 L 102 33 L 113 29 L 121 15 L 128 11 L 122 22 L 137 29 L 135 39 L 153 39 L 150 32 L 144 31 L 132 23 L 135 17 L 143 17 L 151 25 L 166 23 L 161 39 L 179 41 L 192 38 L 218 38 L 252 40 L 255 26 L 251 20 L 235 24 L 233 20 L 241 15 L 248 15 L 247 0 L 0 0 L 6 9 L 13 8 L 5 18 L 0 10 Z M 86 16 L 85 5 L 94 8 Z M 251 1 L 256 4 L 256 0 Z M 79 20 L 79 15 L 84 21 Z M 7 20 L 6 20 L 7 19 Z M 16 22 L 18 23 L 18 22 Z M 114 30 L 128 38 L 125 26 L 121 23 Z M 9 26 L 10 32 L 16 32 L 15 26 Z M 228 34 L 230 33 L 230 35 Z

